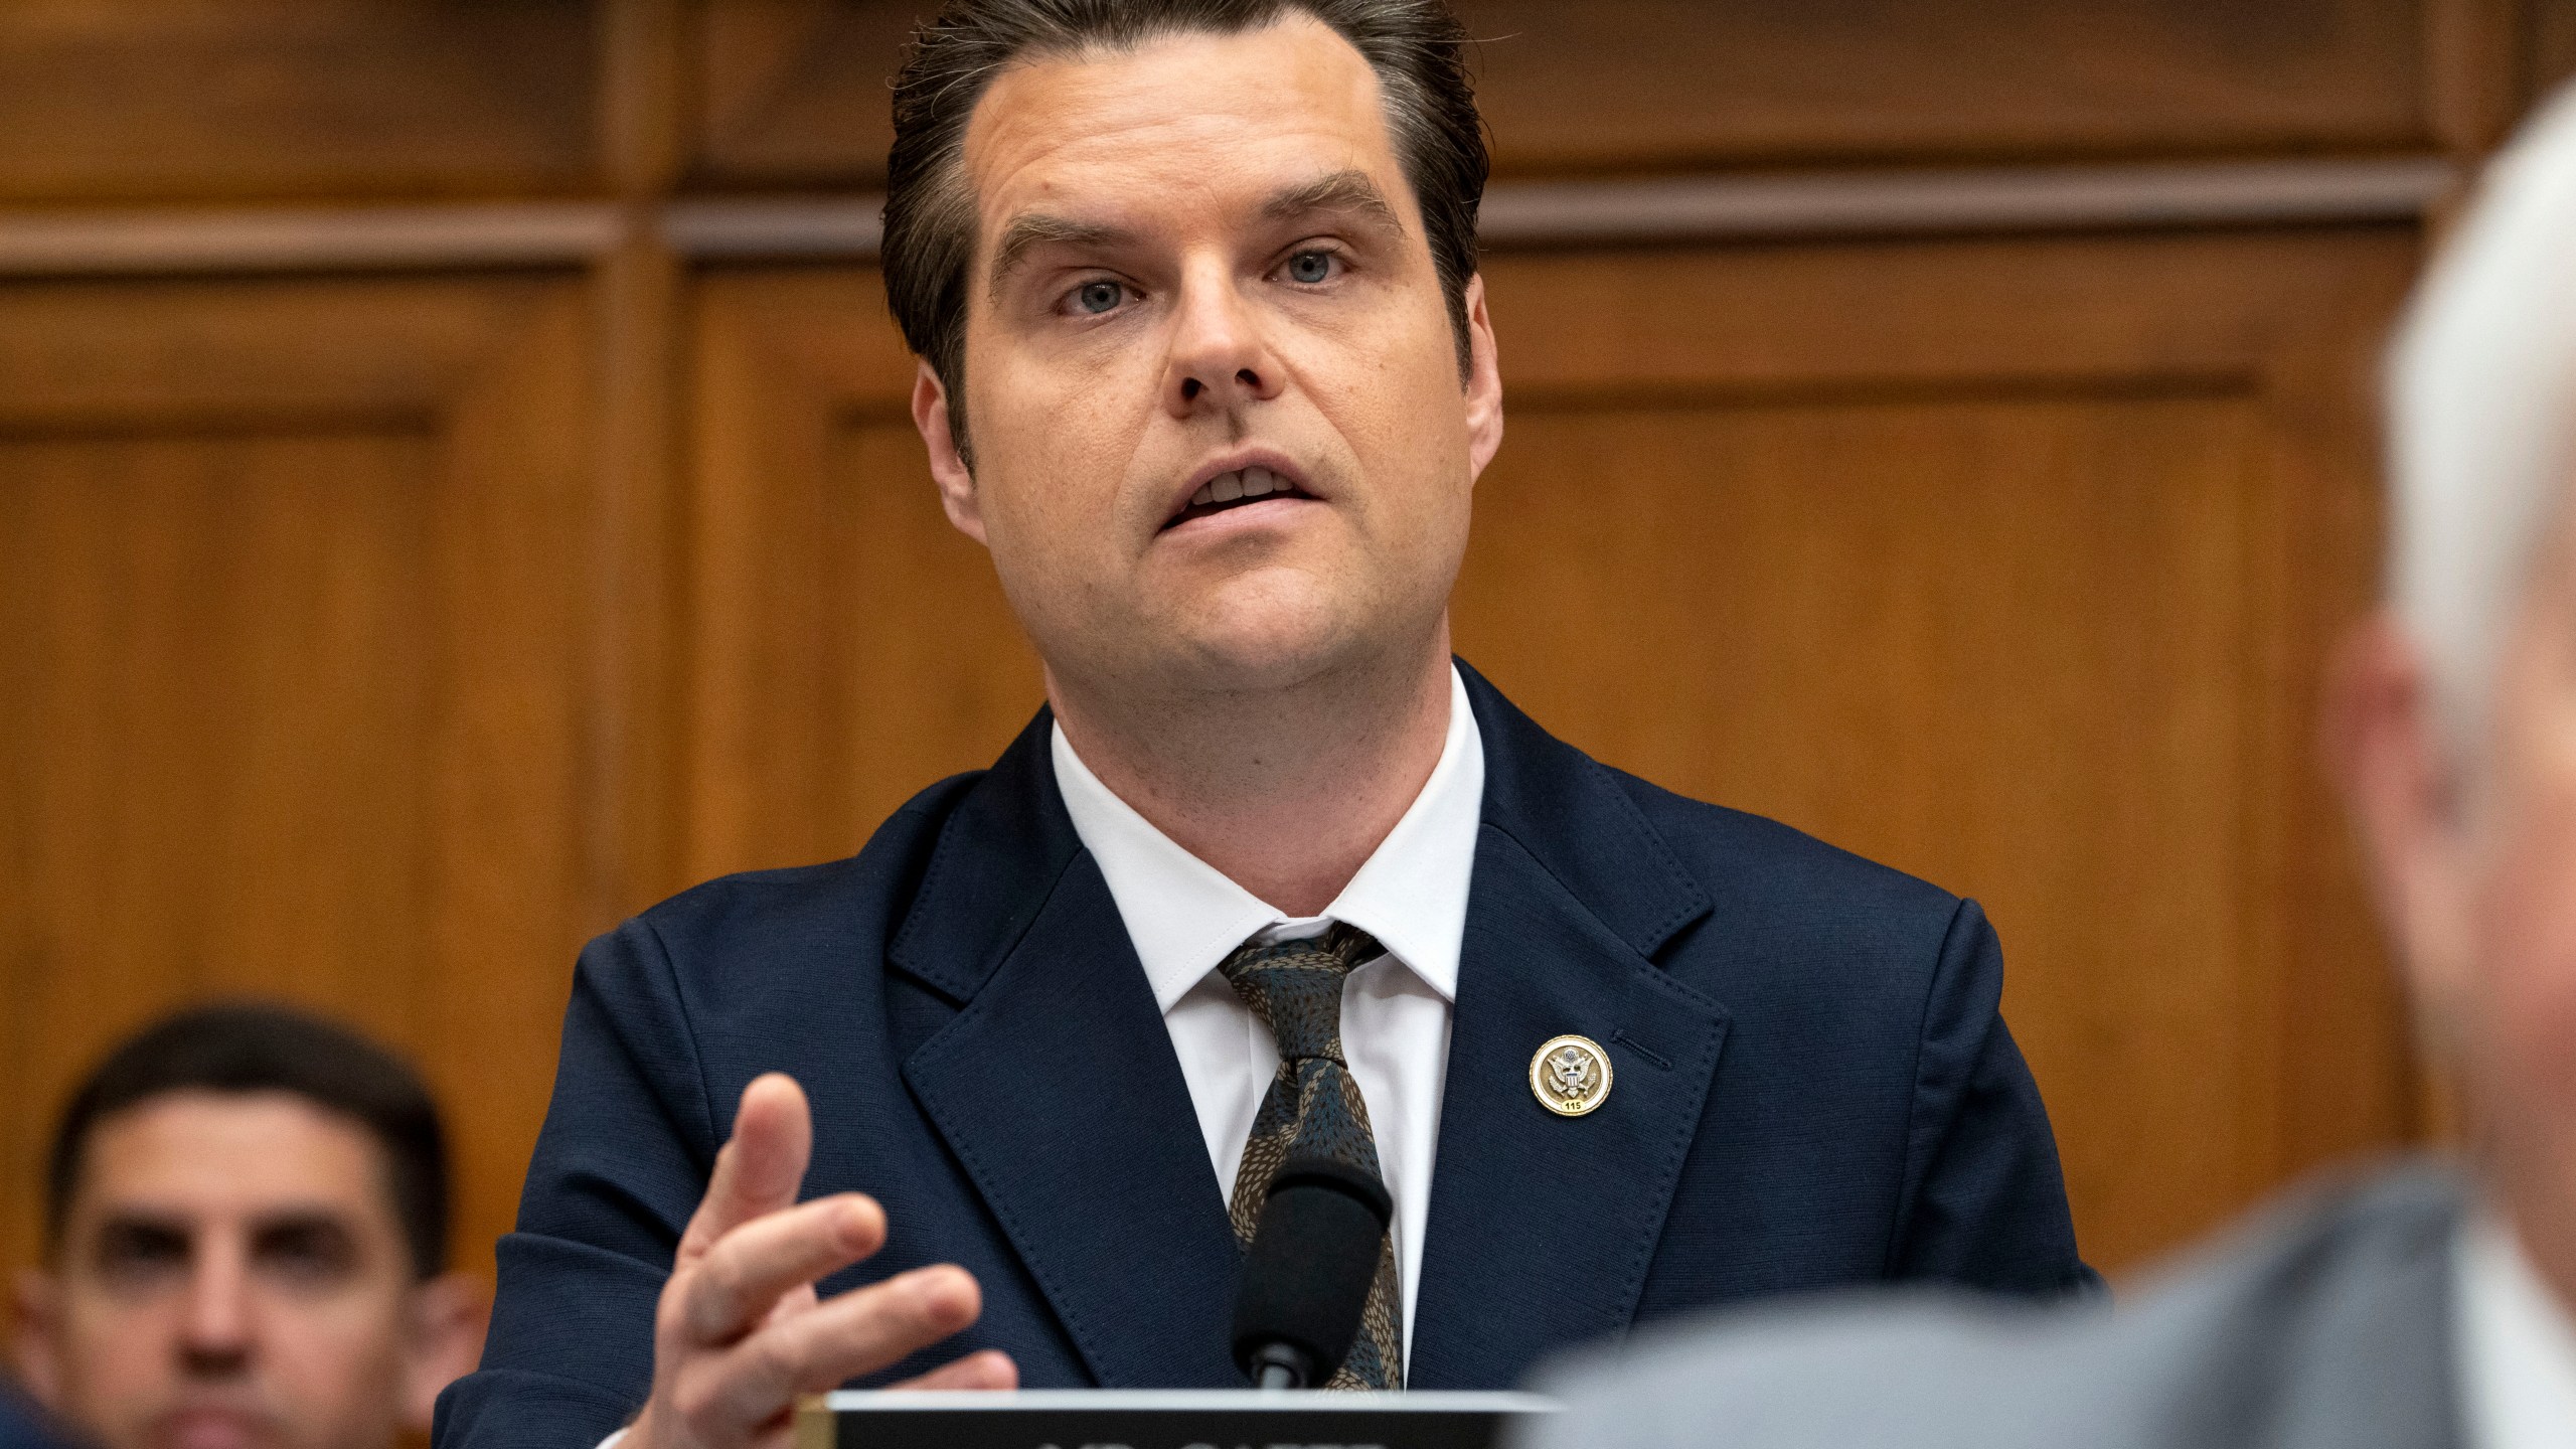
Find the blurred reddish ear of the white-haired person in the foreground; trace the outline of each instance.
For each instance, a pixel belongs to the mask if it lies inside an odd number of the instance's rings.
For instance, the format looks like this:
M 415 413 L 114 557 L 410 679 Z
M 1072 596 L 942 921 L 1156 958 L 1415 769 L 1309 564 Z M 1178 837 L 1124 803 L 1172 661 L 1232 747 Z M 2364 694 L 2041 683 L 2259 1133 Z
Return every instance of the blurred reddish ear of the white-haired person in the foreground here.
M 2421 650 L 2380 614 L 2326 678 L 2324 748 L 2362 838 L 2388 941 L 2434 1024 L 2470 959 L 2468 781 Z

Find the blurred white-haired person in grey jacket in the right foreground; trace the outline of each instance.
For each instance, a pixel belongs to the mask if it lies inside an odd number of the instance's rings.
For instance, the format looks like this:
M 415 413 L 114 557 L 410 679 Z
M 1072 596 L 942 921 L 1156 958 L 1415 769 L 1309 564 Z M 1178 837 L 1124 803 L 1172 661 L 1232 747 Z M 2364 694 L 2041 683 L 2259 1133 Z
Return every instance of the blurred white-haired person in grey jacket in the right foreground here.
M 1837 1299 L 1543 1377 L 1535 1449 L 2576 1444 L 2576 90 L 2388 369 L 2388 598 L 2326 737 L 2463 1163 L 2306 1194 L 2112 1310 Z M 1522 1446 L 1530 1449 L 1530 1446 Z

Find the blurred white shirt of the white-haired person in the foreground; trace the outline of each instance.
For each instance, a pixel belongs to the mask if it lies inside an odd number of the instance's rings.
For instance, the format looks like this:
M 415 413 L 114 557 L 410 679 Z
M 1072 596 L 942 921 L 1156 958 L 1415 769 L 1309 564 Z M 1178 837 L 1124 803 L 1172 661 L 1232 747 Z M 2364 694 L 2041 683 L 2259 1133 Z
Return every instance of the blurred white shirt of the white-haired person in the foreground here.
M 2576 1320 L 2491 1212 L 2460 1230 L 2455 1320 L 2468 1449 L 2576 1444 Z

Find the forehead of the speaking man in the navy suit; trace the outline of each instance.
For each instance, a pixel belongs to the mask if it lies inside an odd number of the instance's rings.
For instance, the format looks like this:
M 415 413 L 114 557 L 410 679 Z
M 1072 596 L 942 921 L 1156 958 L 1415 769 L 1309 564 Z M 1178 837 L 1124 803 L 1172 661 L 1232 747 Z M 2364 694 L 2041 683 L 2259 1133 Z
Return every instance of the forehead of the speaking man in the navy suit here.
M 1404 196 L 1376 72 L 1311 15 L 1025 62 L 966 126 L 987 237 L 1036 206 L 1144 229 L 1334 170 Z

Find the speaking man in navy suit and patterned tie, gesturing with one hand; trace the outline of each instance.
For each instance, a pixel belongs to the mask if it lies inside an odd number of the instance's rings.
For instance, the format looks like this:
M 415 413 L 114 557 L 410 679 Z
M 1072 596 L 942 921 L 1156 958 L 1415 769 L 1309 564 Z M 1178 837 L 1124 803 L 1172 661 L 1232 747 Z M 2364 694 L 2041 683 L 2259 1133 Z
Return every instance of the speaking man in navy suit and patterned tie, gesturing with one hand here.
M 2089 1281 L 1976 905 L 1602 768 L 1450 660 L 1502 443 L 1461 44 L 1430 0 L 922 31 L 886 289 L 1048 709 L 858 859 L 585 951 L 446 1446 L 775 1441 L 853 1377 L 1239 1385 L 1283 1142 L 1396 1199 L 1360 1382 L 1510 1385 L 1749 1294 Z M 1566 1034 L 1610 1070 L 1579 1116 L 1533 1091 Z

